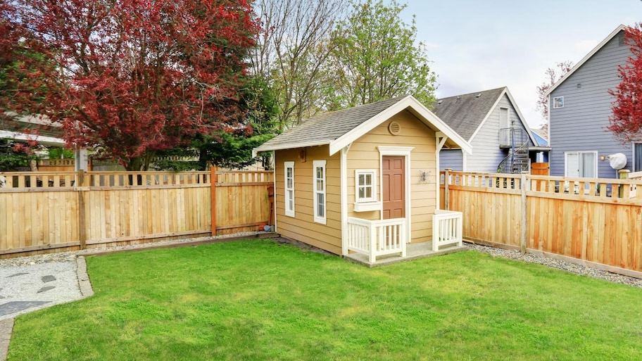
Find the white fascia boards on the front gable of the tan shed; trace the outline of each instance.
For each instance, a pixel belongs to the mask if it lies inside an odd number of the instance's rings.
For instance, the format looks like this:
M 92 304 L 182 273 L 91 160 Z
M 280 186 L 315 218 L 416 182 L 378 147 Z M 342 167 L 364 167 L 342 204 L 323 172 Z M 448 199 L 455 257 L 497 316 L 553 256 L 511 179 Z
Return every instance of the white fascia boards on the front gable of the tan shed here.
M 422 119 L 422 121 L 427 122 L 429 125 L 432 125 L 432 127 L 436 128 L 436 131 L 443 132 L 443 134 L 445 134 L 446 137 L 452 139 L 455 144 L 462 147 L 462 149 L 464 149 L 468 153 L 472 153 L 472 146 L 470 146 L 470 144 L 468 144 L 465 139 L 457 134 L 451 127 L 448 127 L 448 125 L 446 125 L 443 120 L 434 115 L 434 113 L 428 110 L 426 106 L 415 99 L 414 96 L 409 95 L 401 99 L 394 105 L 390 106 L 389 108 L 386 108 L 381 113 L 374 115 L 374 117 L 361 123 L 358 127 L 355 127 L 350 132 L 347 132 L 338 139 L 330 142 L 330 156 L 334 155 L 334 153 L 338 151 L 341 151 L 342 148 L 348 146 L 348 144 L 352 144 L 353 141 L 359 139 L 360 137 L 363 137 L 364 134 L 370 132 L 370 130 L 374 129 L 374 127 L 377 127 L 378 125 L 382 124 L 382 122 L 385 122 L 386 120 L 392 118 L 393 115 L 401 113 L 401 111 L 407 108 L 413 110 L 413 113 L 415 113 L 415 115 L 420 115 L 419 118 Z

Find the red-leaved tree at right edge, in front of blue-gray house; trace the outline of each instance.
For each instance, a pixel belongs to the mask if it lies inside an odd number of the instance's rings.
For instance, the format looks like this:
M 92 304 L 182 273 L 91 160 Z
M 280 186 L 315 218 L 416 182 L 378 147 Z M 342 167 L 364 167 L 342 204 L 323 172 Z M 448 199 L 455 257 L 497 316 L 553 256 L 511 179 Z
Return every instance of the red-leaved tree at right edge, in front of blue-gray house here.
M 624 29 L 624 43 L 631 56 L 618 67 L 622 81 L 609 94 L 615 96 L 608 129 L 622 143 L 642 139 L 642 25 Z

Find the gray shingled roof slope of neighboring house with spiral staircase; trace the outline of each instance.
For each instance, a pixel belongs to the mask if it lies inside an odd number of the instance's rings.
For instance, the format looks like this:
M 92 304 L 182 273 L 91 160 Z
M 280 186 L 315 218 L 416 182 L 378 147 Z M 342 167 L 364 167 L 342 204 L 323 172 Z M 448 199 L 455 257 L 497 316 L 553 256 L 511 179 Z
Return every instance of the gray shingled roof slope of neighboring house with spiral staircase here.
M 439 99 L 433 104 L 432 113 L 463 139 L 470 141 L 472 134 L 484 121 L 504 89 L 506 87 Z

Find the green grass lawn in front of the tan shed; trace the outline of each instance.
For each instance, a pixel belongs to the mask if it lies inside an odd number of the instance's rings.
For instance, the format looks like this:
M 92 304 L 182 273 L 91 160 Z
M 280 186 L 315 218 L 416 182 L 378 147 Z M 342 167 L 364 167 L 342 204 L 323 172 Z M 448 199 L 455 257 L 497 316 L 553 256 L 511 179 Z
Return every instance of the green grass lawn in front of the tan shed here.
M 642 289 L 473 251 L 368 269 L 273 241 L 87 259 L 8 360 L 642 360 Z

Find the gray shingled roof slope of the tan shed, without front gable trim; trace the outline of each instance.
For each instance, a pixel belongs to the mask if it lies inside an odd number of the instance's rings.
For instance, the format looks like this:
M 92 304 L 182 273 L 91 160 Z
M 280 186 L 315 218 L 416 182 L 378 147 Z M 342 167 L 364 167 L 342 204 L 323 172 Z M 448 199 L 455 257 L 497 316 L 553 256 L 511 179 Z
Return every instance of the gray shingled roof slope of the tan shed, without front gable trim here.
M 256 151 L 282 146 L 294 148 L 298 144 L 329 144 L 403 98 L 405 96 L 315 115 L 265 142 Z

